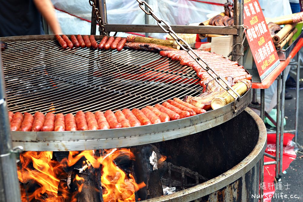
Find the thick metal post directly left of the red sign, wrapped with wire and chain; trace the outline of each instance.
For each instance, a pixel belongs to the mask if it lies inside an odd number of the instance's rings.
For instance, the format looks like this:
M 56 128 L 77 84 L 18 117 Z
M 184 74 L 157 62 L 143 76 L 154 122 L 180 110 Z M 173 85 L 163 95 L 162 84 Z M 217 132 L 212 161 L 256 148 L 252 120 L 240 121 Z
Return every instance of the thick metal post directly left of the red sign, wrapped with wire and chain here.
M 238 29 L 238 35 L 233 36 L 233 49 L 232 49 L 232 57 L 234 61 L 238 61 L 240 65 L 243 65 L 243 27 L 241 25 L 244 24 L 243 19 L 243 10 L 244 4 L 243 0 L 234 1 L 234 26 Z

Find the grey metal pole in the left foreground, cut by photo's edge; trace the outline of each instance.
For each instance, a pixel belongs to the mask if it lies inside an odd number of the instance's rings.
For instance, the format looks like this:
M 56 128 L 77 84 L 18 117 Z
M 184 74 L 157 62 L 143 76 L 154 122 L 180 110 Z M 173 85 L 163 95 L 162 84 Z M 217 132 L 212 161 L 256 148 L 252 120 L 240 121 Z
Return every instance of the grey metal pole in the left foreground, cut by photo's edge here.
M 0 190 L 1 201 L 21 201 L 20 185 L 17 175 L 16 156 L 12 153 L 12 139 L 8 121 L 5 84 L 0 54 Z

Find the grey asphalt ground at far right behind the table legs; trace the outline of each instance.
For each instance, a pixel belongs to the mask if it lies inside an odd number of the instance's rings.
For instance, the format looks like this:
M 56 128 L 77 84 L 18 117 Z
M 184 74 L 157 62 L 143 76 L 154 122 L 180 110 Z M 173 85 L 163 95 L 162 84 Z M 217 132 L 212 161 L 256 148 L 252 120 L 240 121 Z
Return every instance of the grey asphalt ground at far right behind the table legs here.
M 291 74 L 295 78 L 295 75 Z M 303 69 L 300 69 L 300 78 L 303 78 Z M 291 100 L 285 100 L 285 116 L 286 119 L 285 130 L 293 130 L 295 128 L 295 90 L 286 89 L 291 93 L 294 98 Z M 299 93 L 299 121 L 298 121 L 298 143 L 303 145 L 303 90 Z M 293 140 L 294 141 L 294 140 Z M 286 173 L 282 174 L 281 182 L 283 185 L 289 185 L 288 190 L 285 190 L 287 186 L 284 186 L 282 190 L 276 190 L 277 194 L 287 194 L 289 198 L 272 199 L 273 202 L 282 201 L 303 201 L 303 151 L 297 153 L 297 158 L 291 162 L 290 166 L 286 169 Z M 290 195 L 297 195 L 299 198 L 290 198 Z

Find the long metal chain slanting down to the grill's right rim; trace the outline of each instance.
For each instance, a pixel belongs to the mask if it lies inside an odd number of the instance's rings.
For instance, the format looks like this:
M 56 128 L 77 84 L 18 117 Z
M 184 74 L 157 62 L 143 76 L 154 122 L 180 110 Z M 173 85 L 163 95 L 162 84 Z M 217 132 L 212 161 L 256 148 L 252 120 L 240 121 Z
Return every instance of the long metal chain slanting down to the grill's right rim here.
M 175 39 L 176 40 L 176 43 L 183 49 L 183 50 L 185 50 L 213 79 L 215 79 L 216 80 L 216 82 L 218 82 L 218 84 L 223 88 L 223 89 L 225 89 L 235 100 L 238 100 L 238 101 L 240 101 L 240 95 L 237 93 L 237 91 L 235 91 L 231 86 L 229 86 L 228 84 L 227 84 L 227 82 L 225 81 L 225 79 L 221 79 L 220 78 L 220 76 L 213 70 L 213 69 L 211 69 L 210 67 L 209 67 L 209 65 L 207 64 L 207 62 L 205 62 L 205 61 L 203 61 L 199 56 L 198 56 L 198 54 L 197 53 L 195 53 L 194 51 L 193 51 L 193 49 L 191 49 L 191 47 L 190 47 L 190 45 L 188 45 L 188 43 L 184 40 L 184 39 L 182 39 L 182 38 L 180 38 L 180 37 L 178 37 L 178 35 L 171 29 L 171 26 L 166 22 L 166 21 L 164 21 L 163 19 L 159 19 L 156 15 L 155 15 L 155 13 L 153 12 L 153 9 L 150 7 L 150 5 L 148 5 L 148 3 L 147 2 L 145 2 L 145 1 L 140 1 L 140 0 L 137 0 L 137 2 L 139 3 L 139 7 L 142 9 L 142 11 L 144 11 L 145 13 L 146 13 L 146 15 L 151 15 L 151 17 L 153 17 L 156 21 L 157 21 L 157 24 L 158 24 L 158 26 L 159 27 L 161 27 L 161 29 L 165 32 L 165 33 L 168 33 L 169 35 L 171 35 L 171 37 L 173 38 L 173 39 Z M 145 6 L 147 6 L 147 8 L 149 8 L 149 11 L 147 12 L 146 10 L 145 10 L 145 8 L 143 8 L 143 5 L 145 5 Z M 163 25 L 161 25 L 161 23 L 164 23 L 164 25 L 165 26 L 167 26 L 168 27 L 168 29 L 165 29 L 164 27 L 163 27 Z M 186 46 L 187 46 L 187 48 L 185 48 L 180 42 L 183 42 Z M 206 65 L 206 67 L 204 67 L 199 61 L 202 61 L 205 65 Z M 215 74 L 215 76 L 213 76 L 209 71 L 211 71 L 213 74 Z M 222 85 L 221 85 L 221 83 L 220 83 L 220 80 L 221 81 L 223 81 L 224 83 L 225 83 L 225 85 L 226 85 L 226 87 L 223 87 Z M 231 92 L 229 92 L 228 90 L 229 89 L 231 89 L 231 91 L 232 92 L 234 92 L 235 93 L 235 95 L 236 96 L 234 96 Z

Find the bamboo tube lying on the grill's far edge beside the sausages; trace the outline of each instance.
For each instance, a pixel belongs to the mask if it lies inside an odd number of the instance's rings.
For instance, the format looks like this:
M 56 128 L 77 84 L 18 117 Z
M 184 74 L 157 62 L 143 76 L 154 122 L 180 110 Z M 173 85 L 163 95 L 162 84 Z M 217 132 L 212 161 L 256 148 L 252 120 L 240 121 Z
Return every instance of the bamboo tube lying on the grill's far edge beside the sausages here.
M 180 46 L 176 43 L 176 41 L 164 40 L 164 39 L 154 39 L 154 38 L 142 37 L 142 36 L 127 37 L 127 42 L 154 43 L 154 44 L 158 44 L 158 45 L 164 45 L 167 47 L 180 49 Z

